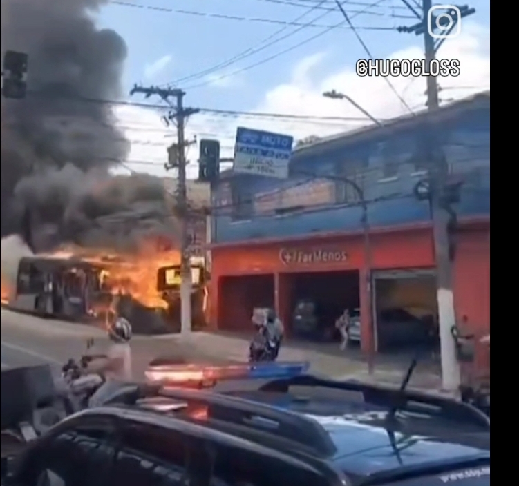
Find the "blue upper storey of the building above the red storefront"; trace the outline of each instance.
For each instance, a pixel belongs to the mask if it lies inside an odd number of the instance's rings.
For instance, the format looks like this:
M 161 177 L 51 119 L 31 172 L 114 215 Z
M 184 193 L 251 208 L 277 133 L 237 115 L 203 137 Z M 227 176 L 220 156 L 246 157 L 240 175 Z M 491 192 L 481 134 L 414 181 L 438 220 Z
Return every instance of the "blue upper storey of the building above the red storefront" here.
M 490 95 L 457 101 L 437 113 L 395 119 L 296 149 L 289 179 L 224 173 L 213 193 L 213 242 L 301 237 L 361 226 L 364 191 L 370 226 L 413 224 L 430 218 L 413 197 L 426 175 L 423 140 L 428 130 L 442 144 L 451 173 L 464 181 L 460 217 L 488 215 Z M 322 176 L 322 177 L 319 177 Z

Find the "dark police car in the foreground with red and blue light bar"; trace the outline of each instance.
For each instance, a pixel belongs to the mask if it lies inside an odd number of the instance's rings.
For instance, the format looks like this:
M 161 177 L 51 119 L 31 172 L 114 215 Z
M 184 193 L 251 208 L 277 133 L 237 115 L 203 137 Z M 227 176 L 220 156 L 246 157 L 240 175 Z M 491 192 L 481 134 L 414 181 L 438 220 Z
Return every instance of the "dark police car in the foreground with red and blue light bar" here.
M 305 363 L 155 364 L 147 385 L 129 385 L 35 440 L 5 465 L 3 483 L 489 485 L 490 420 L 477 409 L 307 371 Z

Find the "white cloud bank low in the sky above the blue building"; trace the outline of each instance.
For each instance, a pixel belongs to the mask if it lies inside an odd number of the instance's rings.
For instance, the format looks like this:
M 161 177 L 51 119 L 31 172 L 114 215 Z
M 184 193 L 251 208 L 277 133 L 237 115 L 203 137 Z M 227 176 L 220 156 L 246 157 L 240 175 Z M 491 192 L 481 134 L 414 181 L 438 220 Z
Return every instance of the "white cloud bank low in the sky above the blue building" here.
M 464 24 L 462 35 L 444 43 L 437 57 L 459 59 L 460 75 L 438 80 L 441 88 L 440 99 L 443 103 L 490 88 L 489 46 L 489 30 L 470 23 Z M 394 52 L 390 59 L 422 57 L 422 48 L 417 39 L 417 46 Z M 319 68 L 324 59 L 325 54 L 322 52 L 301 59 L 294 65 L 290 78 L 268 90 L 251 111 L 312 117 L 351 117 L 351 121 L 261 119 L 198 114 L 189 120 L 187 137 L 219 139 L 222 145 L 222 156 L 231 157 L 237 126 L 287 133 L 294 135 L 295 139 L 302 139 L 310 135 L 319 137 L 334 135 L 370 123 L 368 119 L 362 119 L 364 115 L 348 101 L 322 96 L 324 91 L 331 89 L 350 95 L 377 119 L 388 119 L 408 113 L 383 78 L 358 77 L 355 74 L 355 66 L 342 66 L 329 75 L 321 75 Z M 397 77 L 390 78 L 390 81 L 413 110 L 425 108 L 425 78 Z M 156 166 L 135 164 L 131 167 L 138 171 L 164 174 L 162 166 L 166 161 L 166 146 L 175 140 L 173 127 L 167 130 L 160 121 L 160 114 L 142 108 L 122 107 L 117 111 L 117 115 L 123 125 L 131 127 L 126 130 L 126 135 L 134 142 L 139 142 L 132 145 L 129 159 L 153 160 L 157 164 Z M 144 142 L 146 144 L 143 144 Z M 188 158 L 191 161 L 198 159 L 196 145 L 189 149 Z M 191 177 L 196 176 L 196 170 L 196 164 L 192 163 L 188 166 Z

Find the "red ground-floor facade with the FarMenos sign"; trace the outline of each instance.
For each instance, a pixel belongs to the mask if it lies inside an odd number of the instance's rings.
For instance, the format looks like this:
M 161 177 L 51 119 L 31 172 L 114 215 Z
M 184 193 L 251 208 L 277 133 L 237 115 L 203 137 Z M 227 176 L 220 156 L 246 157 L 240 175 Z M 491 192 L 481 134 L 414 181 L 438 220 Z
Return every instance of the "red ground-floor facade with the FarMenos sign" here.
M 370 234 L 372 272 L 433 269 L 430 224 L 375 229 Z M 210 324 L 212 329 L 246 330 L 252 301 L 274 303 L 284 322 L 290 322 L 292 276 L 297 273 L 358 271 L 361 336 L 368 349 L 372 336 L 373 302 L 366 285 L 364 235 L 329 233 L 292 240 L 268 240 L 216 245 L 211 251 Z M 476 336 L 489 332 L 490 225 L 489 220 L 460 222 L 454 263 L 457 319 L 466 318 Z M 239 277 L 265 277 L 251 288 Z M 274 284 L 267 285 L 267 279 Z M 263 282 L 261 278 L 257 282 Z M 266 295 L 269 294 L 269 295 Z M 272 295 L 273 294 L 273 295 Z M 290 331 L 290 329 L 289 329 Z

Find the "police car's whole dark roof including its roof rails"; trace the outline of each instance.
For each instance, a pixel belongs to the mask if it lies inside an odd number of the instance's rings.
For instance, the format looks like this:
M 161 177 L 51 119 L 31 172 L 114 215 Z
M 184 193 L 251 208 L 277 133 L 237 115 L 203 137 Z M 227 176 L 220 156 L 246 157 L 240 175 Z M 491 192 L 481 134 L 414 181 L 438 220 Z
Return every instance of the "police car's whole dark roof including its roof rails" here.
M 207 406 L 205 420 L 195 422 L 209 434 L 313 458 L 355 477 L 489 459 L 489 418 L 441 396 L 313 376 L 249 391 L 159 389 L 134 394 L 111 413 L 169 427 L 189 422 L 187 405 L 196 402 Z

